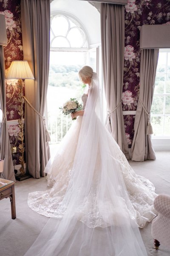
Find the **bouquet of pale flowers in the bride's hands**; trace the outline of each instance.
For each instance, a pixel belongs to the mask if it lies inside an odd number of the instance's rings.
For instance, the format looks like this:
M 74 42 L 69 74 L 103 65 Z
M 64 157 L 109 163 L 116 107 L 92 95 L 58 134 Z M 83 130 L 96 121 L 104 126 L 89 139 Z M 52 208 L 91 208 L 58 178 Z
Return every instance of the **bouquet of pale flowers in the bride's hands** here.
M 59 109 L 62 109 L 62 113 L 64 115 L 68 115 L 78 110 L 82 110 L 82 104 L 79 104 L 76 98 L 74 99 L 71 98 L 70 100 L 64 103 L 63 107 Z M 75 119 L 77 119 L 77 117 L 74 117 L 72 120 L 75 120 Z

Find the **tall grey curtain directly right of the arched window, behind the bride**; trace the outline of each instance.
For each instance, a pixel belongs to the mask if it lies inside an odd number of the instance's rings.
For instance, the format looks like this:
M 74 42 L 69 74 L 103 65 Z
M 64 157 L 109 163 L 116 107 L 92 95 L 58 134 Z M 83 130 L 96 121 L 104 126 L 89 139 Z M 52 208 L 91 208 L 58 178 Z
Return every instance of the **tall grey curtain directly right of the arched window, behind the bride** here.
M 116 4 L 101 4 L 103 81 L 108 122 L 113 138 L 129 158 L 122 112 L 122 87 L 125 50 L 125 10 Z

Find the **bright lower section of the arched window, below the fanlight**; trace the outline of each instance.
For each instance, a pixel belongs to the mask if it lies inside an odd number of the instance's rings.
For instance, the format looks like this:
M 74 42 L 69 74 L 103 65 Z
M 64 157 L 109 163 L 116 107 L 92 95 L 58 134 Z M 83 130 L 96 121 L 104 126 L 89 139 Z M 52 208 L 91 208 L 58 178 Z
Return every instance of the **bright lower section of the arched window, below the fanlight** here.
M 71 116 L 64 116 L 59 107 L 70 98 L 81 102 L 78 71 L 85 66 L 86 55 L 87 52 L 50 52 L 47 106 L 51 143 L 60 142 L 72 123 Z

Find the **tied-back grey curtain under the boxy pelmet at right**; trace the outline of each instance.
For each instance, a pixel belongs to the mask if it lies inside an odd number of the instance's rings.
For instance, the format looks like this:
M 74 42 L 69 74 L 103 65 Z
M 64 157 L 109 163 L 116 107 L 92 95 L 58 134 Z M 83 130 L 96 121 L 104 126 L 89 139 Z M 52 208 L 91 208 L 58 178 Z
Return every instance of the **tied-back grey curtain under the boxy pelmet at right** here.
M 155 86 L 159 49 L 142 49 L 140 62 L 139 101 L 134 123 L 134 138 L 131 147 L 133 161 L 156 159 L 150 129 L 150 109 Z

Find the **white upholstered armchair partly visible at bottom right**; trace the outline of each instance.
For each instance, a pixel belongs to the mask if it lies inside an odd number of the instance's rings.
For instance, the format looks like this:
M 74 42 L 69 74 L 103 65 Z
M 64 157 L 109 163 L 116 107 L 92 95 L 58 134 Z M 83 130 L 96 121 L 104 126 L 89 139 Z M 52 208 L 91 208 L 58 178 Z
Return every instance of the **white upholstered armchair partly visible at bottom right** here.
M 170 196 L 158 195 L 154 200 L 154 208 L 158 216 L 152 221 L 152 236 L 156 250 L 163 244 L 170 248 Z

